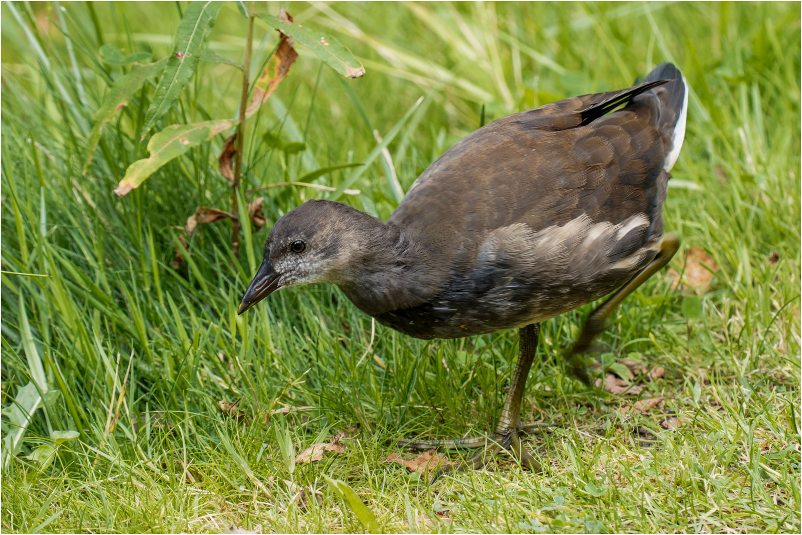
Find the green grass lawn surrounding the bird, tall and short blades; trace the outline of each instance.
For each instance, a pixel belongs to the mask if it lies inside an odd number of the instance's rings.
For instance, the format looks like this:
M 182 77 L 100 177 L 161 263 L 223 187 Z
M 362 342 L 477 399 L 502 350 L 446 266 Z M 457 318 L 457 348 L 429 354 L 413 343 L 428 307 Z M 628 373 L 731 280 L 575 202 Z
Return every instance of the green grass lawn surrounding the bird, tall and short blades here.
M 51 278 L 2 274 L 2 403 L 31 380 L 37 355 L 59 394 L 2 474 L 3 533 L 361 530 L 324 475 L 345 480 L 387 531 L 799 533 L 799 4 L 288 4 L 368 74 L 343 81 L 301 51 L 246 129 L 244 188 L 363 160 L 372 131 L 386 134 L 422 95 L 390 147 L 404 190 L 483 113 L 626 87 L 664 60 L 691 84 L 666 229 L 719 270 L 697 289 L 652 278 L 620 307 L 597 355 L 613 369 L 622 359 L 663 367 L 645 392 L 665 401 L 622 415 L 634 396 L 565 375 L 583 307 L 543 325 L 527 385 L 525 413 L 552 424 L 530 440 L 548 475 L 500 457 L 436 484 L 383 464 L 399 451 L 385 441 L 490 431 L 516 334 L 423 342 L 377 325 L 371 337 L 370 318 L 330 286 L 282 290 L 238 317 L 268 229 L 245 229 L 252 239 L 238 259 L 229 221 L 203 225 L 188 261 L 170 267 L 176 226 L 196 206 L 230 208 L 222 136 L 115 197 L 146 154 L 133 133 L 145 91 L 81 174 L 91 116 L 123 72 L 100 62 L 101 40 L 160 58 L 176 4 L 13 7 L 19 20 L 2 6 L 2 270 Z M 241 60 L 244 35 L 229 3 L 210 47 Z M 276 35 L 257 23 L 256 39 L 261 64 Z M 235 116 L 238 73 L 201 63 L 164 124 Z M 262 143 L 265 132 L 307 149 L 285 157 Z M 389 216 L 386 164 L 372 164 L 346 201 Z M 316 182 L 336 187 L 346 172 Z M 265 216 L 324 194 L 269 189 Z M 678 254 L 671 266 L 683 264 Z M 694 293 L 703 312 L 688 319 L 683 296 Z M 250 424 L 217 405 L 240 398 Z M 313 408 L 267 417 L 300 406 Z M 662 428 L 671 416 L 680 426 Z M 347 428 L 359 433 L 345 453 L 290 471 L 290 449 Z M 26 456 L 54 430 L 80 436 L 41 470 Z M 429 527 L 425 516 L 446 521 Z

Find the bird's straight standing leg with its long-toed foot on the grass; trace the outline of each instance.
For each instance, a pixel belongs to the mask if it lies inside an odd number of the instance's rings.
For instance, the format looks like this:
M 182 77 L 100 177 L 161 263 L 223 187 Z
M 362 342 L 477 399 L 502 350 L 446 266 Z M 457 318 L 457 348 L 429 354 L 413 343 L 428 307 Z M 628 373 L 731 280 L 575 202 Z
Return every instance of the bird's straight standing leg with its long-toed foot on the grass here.
M 512 373 L 512 382 L 504 400 L 504 408 L 496 430 L 491 436 L 478 436 L 467 439 L 456 440 L 401 440 L 399 444 L 415 449 L 430 449 L 444 446 L 446 448 L 484 448 L 481 452 L 468 459 L 461 465 L 450 465 L 444 468 L 443 472 L 454 469 L 481 468 L 488 457 L 495 455 L 502 449 L 512 448 L 512 451 L 520 458 L 521 464 L 533 470 L 540 471 L 540 464 L 534 459 L 524 444 L 520 443 L 520 436 L 526 432 L 540 427 L 538 424 L 520 424 L 520 404 L 524 398 L 524 388 L 526 379 L 529 375 L 529 368 L 535 359 L 537 351 L 537 339 L 540 331 L 540 324 L 521 327 L 519 332 L 519 351 L 518 363 Z

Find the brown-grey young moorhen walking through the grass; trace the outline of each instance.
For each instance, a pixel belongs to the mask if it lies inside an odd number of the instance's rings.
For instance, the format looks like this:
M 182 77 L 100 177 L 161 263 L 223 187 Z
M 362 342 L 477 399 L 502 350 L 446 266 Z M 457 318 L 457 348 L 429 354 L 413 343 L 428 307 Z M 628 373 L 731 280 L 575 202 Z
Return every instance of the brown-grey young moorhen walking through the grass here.
M 444 152 L 387 221 L 313 200 L 279 218 L 242 314 L 287 286 L 330 283 L 365 314 L 415 338 L 517 329 L 519 353 L 489 436 L 403 440 L 409 448 L 501 450 L 541 470 L 521 443 L 520 407 L 541 322 L 610 295 L 565 355 L 579 359 L 627 295 L 679 246 L 663 233 L 670 171 L 685 137 L 688 86 L 671 63 L 620 91 L 574 96 L 494 120 Z

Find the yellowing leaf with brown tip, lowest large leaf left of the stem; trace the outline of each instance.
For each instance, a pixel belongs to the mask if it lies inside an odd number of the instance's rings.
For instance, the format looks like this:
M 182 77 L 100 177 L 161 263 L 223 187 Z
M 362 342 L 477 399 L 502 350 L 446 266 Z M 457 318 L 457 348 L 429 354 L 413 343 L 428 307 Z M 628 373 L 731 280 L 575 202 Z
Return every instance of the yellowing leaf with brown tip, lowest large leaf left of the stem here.
M 211 140 L 221 132 L 239 124 L 236 119 L 217 119 L 195 124 L 173 124 L 157 133 L 148 142 L 149 158 L 136 160 L 128 166 L 123 180 L 114 193 L 123 197 L 133 188 L 138 188 L 148 176 L 151 176 L 160 167 L 187 152 L 189 148 Z

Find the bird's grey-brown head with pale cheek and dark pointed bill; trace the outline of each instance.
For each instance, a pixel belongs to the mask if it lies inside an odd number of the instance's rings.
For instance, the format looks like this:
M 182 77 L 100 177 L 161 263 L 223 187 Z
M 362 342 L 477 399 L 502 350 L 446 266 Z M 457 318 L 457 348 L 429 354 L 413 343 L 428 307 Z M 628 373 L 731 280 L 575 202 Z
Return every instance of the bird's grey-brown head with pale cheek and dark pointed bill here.
M 340 284 L 365 237 L 382 221 L 332 201 L 306 201 L 276 221 L 265 242 L 256 276 L 239 306 L 239 314 L 285 286 L 313 282 Z

